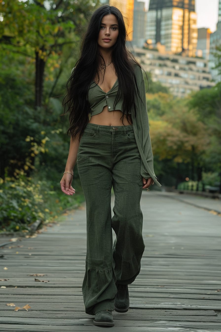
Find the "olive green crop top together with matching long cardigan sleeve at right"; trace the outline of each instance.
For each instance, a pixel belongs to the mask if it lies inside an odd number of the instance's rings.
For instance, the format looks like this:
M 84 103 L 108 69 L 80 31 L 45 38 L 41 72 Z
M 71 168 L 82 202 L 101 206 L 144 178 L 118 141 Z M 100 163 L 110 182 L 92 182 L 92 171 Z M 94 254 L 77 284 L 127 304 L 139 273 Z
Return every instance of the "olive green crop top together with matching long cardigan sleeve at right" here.
M 149 122 L 146 109 L 146 92 L 143 72 L 137 64 L 133 64 L 133 68 L 137 80 L 139 94 L 135 86 L 135 105 L 137 109 L 136 117 L 134 112 L 132 112 L 131 118 L 133 122 L 134 135 L 141 158 L 140 175 L 144 179 L 151 177 L 156 185 L 161 187 L 161 184 L 157 181 L 153 170 L 153 153 L 149 134 Z M 88 90 L 88 102 L 91 109 L 91 116 L 101 113 L 103 107 L 106 105 L 108 110 L 113 111 L 117 91 L 118 80 L 116 80 L 113 87 L 107 93 L 104 92 L 95 82 L 92 82 Z M 122 104 L 123 98 L 120 98 L 115 106 L 115 110 L 122 111 Z

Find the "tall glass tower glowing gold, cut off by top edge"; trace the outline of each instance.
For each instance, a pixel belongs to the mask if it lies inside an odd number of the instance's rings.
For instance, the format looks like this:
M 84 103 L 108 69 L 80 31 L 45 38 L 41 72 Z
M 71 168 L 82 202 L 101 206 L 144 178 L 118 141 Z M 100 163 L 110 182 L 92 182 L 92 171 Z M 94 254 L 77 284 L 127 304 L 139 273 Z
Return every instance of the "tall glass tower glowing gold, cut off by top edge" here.
M 145 39 L 153 47 L 195 56 L 197 46 L 195 0 L 150 0 Z

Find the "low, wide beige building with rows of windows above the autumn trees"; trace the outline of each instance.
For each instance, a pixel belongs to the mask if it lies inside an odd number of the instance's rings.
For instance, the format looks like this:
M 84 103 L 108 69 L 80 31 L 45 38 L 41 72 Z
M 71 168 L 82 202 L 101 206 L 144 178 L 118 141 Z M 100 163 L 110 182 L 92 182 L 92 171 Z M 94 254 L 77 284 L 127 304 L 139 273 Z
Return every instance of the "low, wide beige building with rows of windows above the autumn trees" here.
M 185 97 L 192 91 L 215 85 L 211 82 L 207 60 L 168 54 L 162 45 L 157 47 L 158 50 L 135 48 L 134 55 L 144 70 L 151 73 L 152 80 L 167 86 L 174 96 Z

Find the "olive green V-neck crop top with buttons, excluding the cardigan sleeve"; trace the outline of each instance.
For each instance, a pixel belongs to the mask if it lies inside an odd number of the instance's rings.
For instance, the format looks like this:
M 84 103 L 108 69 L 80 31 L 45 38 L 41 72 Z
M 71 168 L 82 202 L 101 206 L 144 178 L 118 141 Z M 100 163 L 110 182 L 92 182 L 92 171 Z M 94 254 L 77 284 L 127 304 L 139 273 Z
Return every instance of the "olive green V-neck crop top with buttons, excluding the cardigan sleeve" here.
M 96 115 L 103 111 L 104 106 L 107 106 L 108 111 L 123 110 L 123 97 L 118 98 L 116 105 L 114 105 L 118 92 L 118 79 L 112 88 L 105 92 L 94 81 L 91 83 L 88 90 L 88 102 L 90 105 L 90 115 Z M 114 107 L 115 106 L 115 107 Z

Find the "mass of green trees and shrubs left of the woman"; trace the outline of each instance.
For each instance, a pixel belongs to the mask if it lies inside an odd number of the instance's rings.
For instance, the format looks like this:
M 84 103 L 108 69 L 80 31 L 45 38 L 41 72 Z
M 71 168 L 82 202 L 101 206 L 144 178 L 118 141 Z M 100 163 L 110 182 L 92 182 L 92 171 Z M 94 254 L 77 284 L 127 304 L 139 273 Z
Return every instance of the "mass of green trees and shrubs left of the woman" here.
M 60 189 L 70 140 L 68 119 L 61 114 L 66 82 L 96 3 L 0 1 L 1 229 L 25 230 L 36 219 L 47 221 L 83 201 L 77 170 L 76 195 Z M 36 107 L 39 89 L 42 103 Z

